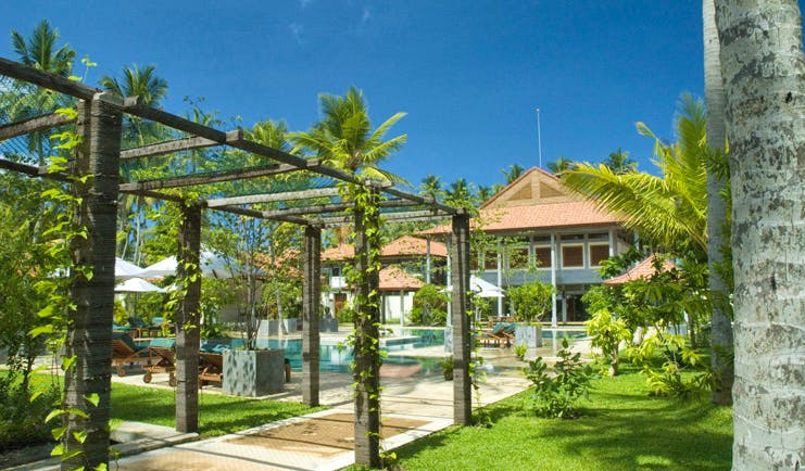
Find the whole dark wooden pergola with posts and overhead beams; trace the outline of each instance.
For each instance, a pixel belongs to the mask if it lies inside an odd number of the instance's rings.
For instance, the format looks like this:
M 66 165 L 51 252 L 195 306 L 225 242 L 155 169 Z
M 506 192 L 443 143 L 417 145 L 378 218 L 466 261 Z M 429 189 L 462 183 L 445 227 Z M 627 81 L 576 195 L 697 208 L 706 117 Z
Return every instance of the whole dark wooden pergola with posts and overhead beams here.
M 180 116 L 142 104 L 137 97 L 121 99 L 96 88 L 66 78 L 43 73 L 0 58 L 0 76 L 52 90 L 78 100 L 78 115 L 71 119 L 62 114 L 43 114 L 16 123 L 0 124 L 0 142 L 32 132 L 48 131 L 53 127 L 75 125 L 83 142 L 68 173 L 49 173 L 47 168 L 22 164 L 0 157 L 0 168 L 25 174 L 30 177 L 52 178 L 71 182 L 84 202 L 80 206 L 80 224 L 86 226 L 89 238 L 77 251 L 77 263 L 91 267 L 91 279 L 77 279 L 71 296 L 77 306 L 67 332 L 67 352 L 77 356 L 75 368 L 65 377 L 65 407 L 87 409 L 84 399 L 98 394 L 98 407 L 90 407 L 88 418 L 68 416 L 65 425 L 65 449 L 81 449 L 83 456 L 63 461 L 62 469 L 77 466 L 95 467 L 108 462 L 111 381 L 111 338 L 114 297 L 114 258 L 116 232 L 116 205 L 120 193 L 135 194 L 183 203 L 183 222 L 179 229 L 179 272 L 185 262 L 199 264 L 202 211 L 217 211 L 253 218 L 274 219 L 304 227 L 303 269 L 303 332 L 302 332 L 302 397 L 311 406 L 319 403 L 319 304 L 320 304 L 320 242 L 322 229 L 352 224 L 356 233 L 356 253 L 366 247 L 367 238 L 361 221 L 348 209 L 349 202 L 338 201 L 338 189 L 318 188 L 302 191 L 285 191 L 249 195 L 216 195 L 210 199 L 186 198 L 167 189 L 188 188 L 222 181 L 242 181 L 271 175 L 309 171 L 327 177 L 336 182 L 349 182 L 370 188 L 386 199 L 380 203 L 380 216 L 389 221 L 425 219 L 452 219 L 451 282 L 452 297 L 452 344 L 454 361 L 454 421 L 469 424 L 471 421 L 471 397 L 469 378 L 470 335 L 467 317 L 467 291 L 469 285 L 469 215 L 463 208 L 439 203 L 428 196 L 403 191 L 393 186 L 362 181 L 352 174 L 322 165 L 315 158 L 302 158 L 262 145 L 243 137 L 242 131 L 222 131 Z M 159 123 L 186 135 L 181 139 L 153 143 L 135 149 L 121 150 L 122 119 L 124 115 Z M 188 174 L 171 178 L 121 183 L 121 162 L 175 152 L 200 150 L 212 147 L 228 147 L 247 154 L 269 160 L 262 166 L 249 166 L 204 174 Z M 76 186 L 71 177 L 92 176 L 89 184 Z M 329 199 L 329 203 L 322 203 Z M 336 201 L 334 201 L 334 199 Z M 260 211 L 251 205 L 267 202 L 295 202 L 292 206 Z M 356 257 L 360 262 L 361 257 Z M 112 267 L 112 269 L 110 269 Z M 362 290 L 377 290 L 374 285 Z M 176 370 L 176 430 L 198 430 L 198 364 L 199 329 L 185 326 L 199 323 L 200 278 L 194 277 L 186 285 L 180 300 L 175 323 L 177 370 Z M 364 315 L 379 322 L 378 309 Z M 373 322 L 374 323 L 374 322 Z M 378 333 L 367 332 L 376 339 Z M 356 352 L 356 356 L 364 355 Z M 376 354 L 372 354 L 376 355 Z M 379 397 L 366 391 L 378 391 L 379 365 L 377 358 L 355 358 L 362 365 L 374 368 L 359 380 L 355 398 L 355 461 L 361 464 L 379 464 Z M 366 384 L 361 384 L 361 381 Z M 75 441 L 73 432 L 88 432 L 84 444 Z

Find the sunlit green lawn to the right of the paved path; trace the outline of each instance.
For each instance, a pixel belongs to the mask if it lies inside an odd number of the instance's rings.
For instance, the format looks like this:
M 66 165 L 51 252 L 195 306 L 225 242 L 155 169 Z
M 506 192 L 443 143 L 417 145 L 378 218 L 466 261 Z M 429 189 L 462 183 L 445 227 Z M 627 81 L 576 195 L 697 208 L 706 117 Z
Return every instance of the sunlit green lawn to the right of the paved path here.
M 729 470 L 732 417 L 708 399 L 649 397 L 629 372 L 593 382 L 576 420 L 523 411 L 528 392 L 490 407 L 490 428 L 450 428 L 397 451 L 408 470 Z

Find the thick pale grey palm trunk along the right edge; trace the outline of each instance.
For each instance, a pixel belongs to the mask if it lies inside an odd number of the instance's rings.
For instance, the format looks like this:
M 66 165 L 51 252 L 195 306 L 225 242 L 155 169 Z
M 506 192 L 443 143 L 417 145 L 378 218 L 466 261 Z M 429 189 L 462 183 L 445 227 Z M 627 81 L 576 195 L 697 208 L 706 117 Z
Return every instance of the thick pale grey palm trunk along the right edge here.
M 796 0 L 717 1 L 732 184 L 733 468 L 805 458 L 805 60 Z

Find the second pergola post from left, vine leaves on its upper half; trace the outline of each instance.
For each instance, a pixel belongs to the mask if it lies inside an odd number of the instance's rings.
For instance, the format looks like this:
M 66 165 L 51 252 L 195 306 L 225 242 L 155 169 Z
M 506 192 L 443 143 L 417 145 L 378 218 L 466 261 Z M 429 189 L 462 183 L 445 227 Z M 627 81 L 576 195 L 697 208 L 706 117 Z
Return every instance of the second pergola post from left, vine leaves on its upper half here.
M 201 298 L 201 207 L 181 205 L 176 275 L 184 284 L 176 326 L 176 430 L 199 431 L 199 310 Z

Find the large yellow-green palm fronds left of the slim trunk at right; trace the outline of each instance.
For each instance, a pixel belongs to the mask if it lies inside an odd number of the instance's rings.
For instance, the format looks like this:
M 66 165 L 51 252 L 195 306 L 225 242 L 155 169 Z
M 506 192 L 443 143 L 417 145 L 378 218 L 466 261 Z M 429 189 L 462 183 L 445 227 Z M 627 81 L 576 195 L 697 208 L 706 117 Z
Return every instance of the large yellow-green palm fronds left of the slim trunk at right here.
M 563 182 L 593 198 L 600 206 L 624 215 L 624 224 L 649 243 L 677 254 L 693 251 L 695 259 L 704 260 L 707 206 L 702 102 L 682 97 L 677 143 L 663 142 L 642 123 L 638 123 L 638 130 L 655 139 L 655 165 L 661 177 L 643 173 L 617 175 L 604 164 L 582 163 L 566 170 Z

